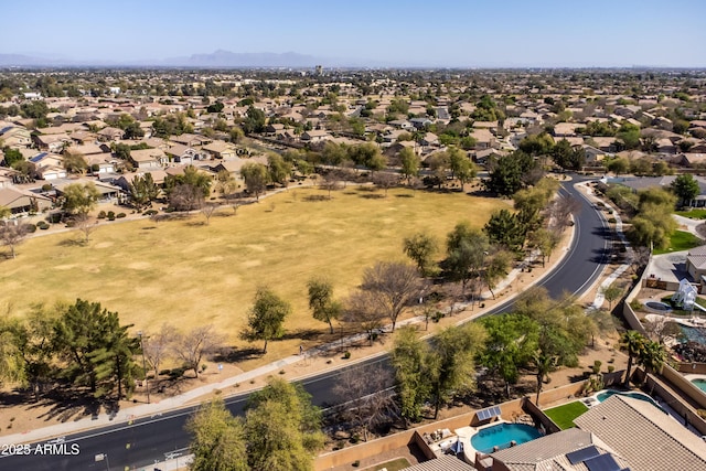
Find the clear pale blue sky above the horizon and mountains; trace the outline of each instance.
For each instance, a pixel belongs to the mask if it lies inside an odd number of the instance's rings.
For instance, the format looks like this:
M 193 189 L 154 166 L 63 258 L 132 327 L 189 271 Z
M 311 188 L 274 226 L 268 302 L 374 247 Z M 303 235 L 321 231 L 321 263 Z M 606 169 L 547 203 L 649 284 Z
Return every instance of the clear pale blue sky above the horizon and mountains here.
M 370 65 L 706 67 L 704 0 L 33 0 L 0 53 L 138 61 L 297 52 Z

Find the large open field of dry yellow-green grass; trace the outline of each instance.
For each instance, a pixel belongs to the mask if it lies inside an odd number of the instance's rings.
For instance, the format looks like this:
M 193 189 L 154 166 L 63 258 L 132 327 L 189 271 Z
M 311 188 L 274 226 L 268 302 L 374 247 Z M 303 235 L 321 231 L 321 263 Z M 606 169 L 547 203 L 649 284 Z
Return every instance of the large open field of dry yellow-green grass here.
M 328 332 L 308 309 L 310 277 L 329 277 L 334 296 L 343 298 L 365 267 L 406 260 L 405 236 L 428 231 L 443 250 L 446 234 L 459 221 L 481 227 L 494 210 L 507 207 L 494 199 L 406 189 L 391 190 L 387 197 L 356 188 L 334 192 L 331 201 L 308 197 L 325 194 L 290 189 L 242 206 L 237 215 L 224 207 L 207 226 L 201 214 L 109 223 L 86 246 L 76 243 L 78 232 L 30 238 L 15 259 L 0 258 L 0 310 L 22 315 L 33 303 L 82 298 L 117 311 L 135 332 L 149 334 L 165 322 L 182 330 L 212 323 L 232 345 L 245 346 L 238 333 L 256 287 L 267 285 L 293 312 L 285 321 L 286 339 L 270 342 L 257 361 L 266 363 Z

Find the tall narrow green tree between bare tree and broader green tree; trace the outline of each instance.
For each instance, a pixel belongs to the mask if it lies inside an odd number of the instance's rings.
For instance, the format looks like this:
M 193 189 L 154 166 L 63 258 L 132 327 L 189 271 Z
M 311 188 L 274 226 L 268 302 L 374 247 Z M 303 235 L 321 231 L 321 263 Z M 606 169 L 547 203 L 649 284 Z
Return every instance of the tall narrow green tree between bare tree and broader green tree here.
M 421 420 L 424 403 L 430 394 L 428 382 L 429 343 L 419 339 L 415 328 L 399 329 L 391 352 L 399 410 L 405 426 Z

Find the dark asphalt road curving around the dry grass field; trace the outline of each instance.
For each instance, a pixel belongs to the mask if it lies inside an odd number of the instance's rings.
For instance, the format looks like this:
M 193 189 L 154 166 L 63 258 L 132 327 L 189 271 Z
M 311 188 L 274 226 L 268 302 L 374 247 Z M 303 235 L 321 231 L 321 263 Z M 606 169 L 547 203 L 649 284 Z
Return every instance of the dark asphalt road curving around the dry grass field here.
M 568 256 L 541 282 L 554 298 L 563 292 L 580 293 L 600 276 L 606 261 L 610 234 L 602 216 L 574 188 L 576 182 L 565 183 L 561 191 L 581 202 L 576 220 L 576 237 Z M 512 301 L 495 308 L 490 313 L 510 310 Z M 387 364 L 381 355 L 350 366 L 371 368 L 374 364 Z M 332 404 L 335 398 L 332 387 L 336 372 L 312 376 L 302 382 L 319 406 Z M 242 414 L 245 395 L 226 400 L 233 414 Z M 174 410 L 130 422 L 115 424 L 86 432 L 65 437 L 63 442 L 46 447 L 46 442 L 31 443 L 29 448 L 3 448 L 0 450 L 0 470 L 60 471 L 60 470 L 150 470 L 159 469 L 159 461 L 188 454 L 190 436 L 184 424 L 192 408 Z M 20 454 L 22 453 L 22 454 Z M 107 460 L 95 461 L 104 453 Z

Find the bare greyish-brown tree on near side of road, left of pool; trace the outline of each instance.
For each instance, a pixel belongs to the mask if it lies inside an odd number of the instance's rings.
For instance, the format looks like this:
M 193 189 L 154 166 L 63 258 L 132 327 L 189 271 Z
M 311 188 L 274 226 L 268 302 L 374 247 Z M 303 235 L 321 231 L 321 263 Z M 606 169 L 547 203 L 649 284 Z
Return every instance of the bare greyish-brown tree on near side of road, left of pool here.
M 333 394 L 342 403 L 341 418 L 354 428 L 362 428 L 365 441 L 371 430 L 397 416 L 393 387 L 392 372 L 379 366 L 372 371 L 350 368 L 339 376 Z

